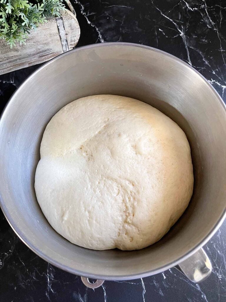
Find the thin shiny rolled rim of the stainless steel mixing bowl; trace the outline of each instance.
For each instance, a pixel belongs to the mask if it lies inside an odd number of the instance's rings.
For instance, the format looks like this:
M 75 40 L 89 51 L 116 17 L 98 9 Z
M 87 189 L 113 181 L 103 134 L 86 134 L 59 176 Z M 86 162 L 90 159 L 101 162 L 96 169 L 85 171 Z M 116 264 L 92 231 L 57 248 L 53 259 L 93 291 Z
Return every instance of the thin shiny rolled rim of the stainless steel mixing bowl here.
M 35 71 L 33 71 L 20 85 L 19 87 L 15 90 L 15 92 L 13 93 L 13 95 L 9 98 L 8 102 L 5 105 L 5 108 L 2 111 L 2 114 L 0 116 L 0 128 L 2 128 L 2 124 L 3 124 L 3 119 L 4 119 L 4 115 L 6 114 L 6 111 L 8 110 L 8 106 L 9 104 L 13 101 L 15 95 L 20 92 L 21 89 L 23 89 L 23 86 L 26 85 L 26 82 L 30 79 L 30 77 L 35 76 L 36 73 L 39 73 L 42 69 L 45 69 L 46 66 L 48 66 L 49 64 L 52 64 L 54 61 L 57 61 L 59 58 L 64 57 L 64 56 L 68 56 L 70 55 L 70 53 L 72 52 L 77 52 L 77 51 L 81 51 L 81 50 L 86 50 L 86 49 L 92 49 L 92 48 L 98 48 L 98 47 L 108 47 L 108 46 L 124 46 L 124 47 L 140 47 L 146 50 L 151 50 L 157 53 L 161 53 L 164 56 L 167 56 L 171 59 L 174 59 L 175 61 L 177 61 L 177 63 L 180 63 L 184 66 L 186 66 L 186 68 L 189 68 L 191 70 L 193 70 L 193 72 L 195 72 L 199 77 L 202 78 L 202 80 L 208 85 L 208 88 L 213 92 L 213 94 L 216 97 L 216 100 L 218 100 L 218 102 L 220 103 L 222 109 L 225 112 L 225 118 L 226 118 L 226 104 L 224 103 L 224 101 L 222 100 L 222 98 L 220 97 L 220 95 L 218 94 L 218 92 L 215 90 L 215 88 L 208 82 L 208 80 L 202 76 L 196 69 L 194 69 L 192 66 L 190 66 L 190 64 L 184 62 L 182 59 L 177 58 L 174 55 L 171 55 L 170 53 L 167 53 L 163 50 L 159 50 L 157 48 L 154 47 L 150 47 L 150 46 L 146 46 L 146 45 L 142 45 L 142 44 L 137 44 L 137 43 L 127 43 L 127 42 L 105 42 L 105 43 L 97 43 L 97 44 L 89 44 L 86 46 L 81 46 L 81 47 L 77 47 L 73 50 L 67 51 L 65 53 L 62 53 L 58 56 L 56 56 L 55 58 L 49 60 L 48 62 L 42 64 L 41 66 L 39 66 Z M 11 226 L 11 228 L 14 230 L 14 232 L 16 233 L 16 235 L 20 238 L 20 240 L 28 247 L 30 248 L 36 255 L 38 255 L 39 257 L 41 257 L 42 259 L 44 259 L 45 261 L 49 262 L 50 264 L 61 268 L 64 271 L 67 271 L 69 273 L 75 274 L 75 275 L 79 275 L 79 276 L 86 276 L 88 278 L 93 278 L 93 279 L 102 279 L 102 280 L 111 280 L 111 281 L 119 281 L 119 280 L 131 280 L 131 279 L 138 279 L 138 278 L 144 278 L 144 277 L 148 277 L 151 275 L 155 275 L 158 273 L 161 273 L 165 270 L 168 270 L 169 268 L 172 268 L 174 266 L 176 266 L 177 264 L 179 264 L 180 262 L 183 262 L 185 259 L 189 258 L 190 256 L 192 256 L 195 252 L 197 252 L 200 248 L 202 248 L 203 245 L 205 245 L 209 239 L 211 239 L 211 237 L 217 232 L 217 230 L 219 229 L 219 227 L 221 226 L 221 224 L 223 223 L 224 219 L 226 218 L 226 206 L 225 209 L 223 211 L 223 213 L 221 214 L 221 216 L 218 219 L 218 222 L 215 224 L 215 226 L 213 226 L 212 230 L 203 238 L 199 241 L 199 243 L 196 244 L 196 246 L 190 250 L 187 251 L 186 254 L 184 254 L 183 256 L 179 257 L 178 259 L 168 263 L 167 265 L 163 265 L 157 269 L 153 269 L 153 270 L 148 270 L 146 272 L 143 273 L 134 273 L 134 274 L 130 274 L 130 275 L 99 275 L 99 274 L 90 274 L 88 272 L 83 272 L 74 268 L 71 268 L 70 266 L 64 265 L 52 258 L 50 258 L 48 255 L 46 255 L 45 253 L 43 253 L 42 251 L 40 251 L 36 246 L 34 246 L 32 243 L 30 243 L 30 240 L 28 238 L 26 238 L 23 235 L 23 232 L 21 232 L 21 230 L 17 227 L 16 223 L 14 222 L 13 218 L 11 217 L 11 215 L 9 214 L 7 207 L 4 203 L 4 201 L 2 200 L 2 196 L 1 196 L 1 184 L 0 184 L 0 207 L 2 209 L 3 214 L 5 215 L 6 220 L 8 221 L 9 225 Z

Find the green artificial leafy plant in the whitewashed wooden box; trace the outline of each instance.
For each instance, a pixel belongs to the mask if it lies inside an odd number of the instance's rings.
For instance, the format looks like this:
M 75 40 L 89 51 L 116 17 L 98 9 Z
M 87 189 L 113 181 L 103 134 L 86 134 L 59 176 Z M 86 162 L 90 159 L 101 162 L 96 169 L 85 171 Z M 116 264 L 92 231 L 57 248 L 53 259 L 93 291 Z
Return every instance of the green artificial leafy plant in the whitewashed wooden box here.
M 0 0 L 0 39 L 10 47 L 25 44 L 31 29 L 49 16 L 60 16 L 63 8 L 62 0 Z

